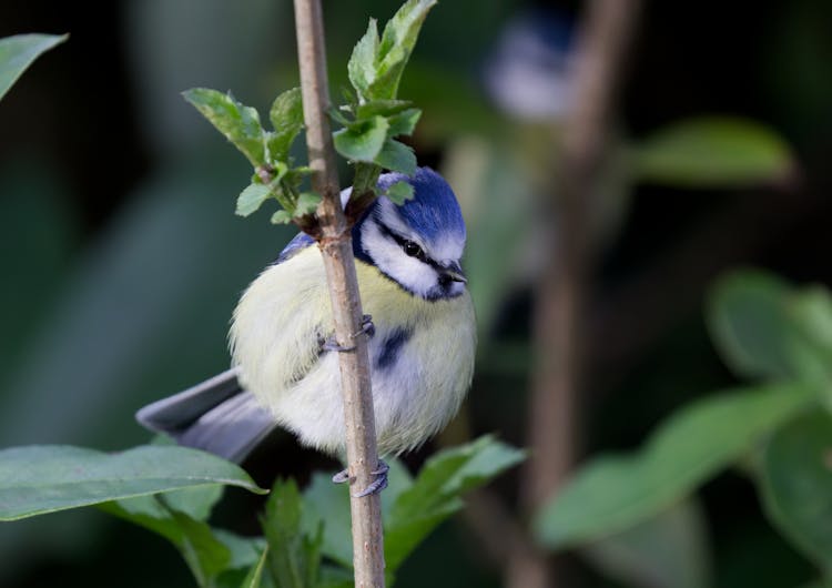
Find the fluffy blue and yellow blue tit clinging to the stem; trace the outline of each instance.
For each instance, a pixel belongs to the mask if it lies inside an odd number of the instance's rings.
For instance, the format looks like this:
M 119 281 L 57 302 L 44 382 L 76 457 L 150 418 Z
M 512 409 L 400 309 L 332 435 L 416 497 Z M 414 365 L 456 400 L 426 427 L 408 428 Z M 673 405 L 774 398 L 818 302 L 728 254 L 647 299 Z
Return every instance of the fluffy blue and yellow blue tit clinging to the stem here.
M 396 204 L 384 193 L 403 181 L 413 197 Z M 342 192 L 342 204 L 351 191 Z M 377 193 L 352 237 L 367 313 L 362 334 L 369 337 L 376 440 L 379 456 L 387 456 L 419 447 L 457 413 L 470 387 L 477 335 L 460 265 L 466 226 L 451 187 L 417 168 L 412 176 L 381 174 Z M 275 427 L 343 458 L 343 349 L 334 343 L 314 244 L 297 234 L 244 291 L 229 334 L 231 368 L 141 408 L 141 425 L 237 463 Z M 383 469 L 382 462 L 378 487 L 386 485 Z

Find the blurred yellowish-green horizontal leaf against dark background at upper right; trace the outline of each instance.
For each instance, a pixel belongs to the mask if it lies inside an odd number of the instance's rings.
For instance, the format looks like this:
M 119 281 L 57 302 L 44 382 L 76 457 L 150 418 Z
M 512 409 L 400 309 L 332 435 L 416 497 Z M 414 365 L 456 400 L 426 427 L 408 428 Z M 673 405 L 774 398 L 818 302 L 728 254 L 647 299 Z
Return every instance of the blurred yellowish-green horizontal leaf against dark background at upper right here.
M 791 149 L 773 130 L 730 116 L 673 123 L 640 141 L 633 154 L 639 180 L 686 187 L 777 182 L 794 166 Z

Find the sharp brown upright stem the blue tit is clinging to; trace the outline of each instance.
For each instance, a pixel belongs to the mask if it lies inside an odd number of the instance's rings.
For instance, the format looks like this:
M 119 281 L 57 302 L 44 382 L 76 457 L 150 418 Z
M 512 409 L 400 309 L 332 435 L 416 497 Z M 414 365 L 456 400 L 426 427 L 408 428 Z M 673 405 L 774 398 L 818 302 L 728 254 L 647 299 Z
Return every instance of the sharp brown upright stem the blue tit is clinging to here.
M 366 337 L 353 337 L 361 331 L 362 306 L 353 258 L 351 227 L 341 206 L 335 150 L 327 110 L 329 90 L 326 79 L 324 26 L 319 0 L 295 0 L 297 53 L 301 65 L 306 142 L 313 190 L 323 196 L 317 210 L 321 247 L 335 320 L 335 337 L 343 347 L 338 354 L 344 398 L 347 467 L 351 481 L 365 488 L 373 481 L 378 465 L 369 356 Z M 353 520 L 353 565 L 355 586 L 384 587 L 384 537 L 382 507 L 377 494 L 356 498 L 351 493 Z

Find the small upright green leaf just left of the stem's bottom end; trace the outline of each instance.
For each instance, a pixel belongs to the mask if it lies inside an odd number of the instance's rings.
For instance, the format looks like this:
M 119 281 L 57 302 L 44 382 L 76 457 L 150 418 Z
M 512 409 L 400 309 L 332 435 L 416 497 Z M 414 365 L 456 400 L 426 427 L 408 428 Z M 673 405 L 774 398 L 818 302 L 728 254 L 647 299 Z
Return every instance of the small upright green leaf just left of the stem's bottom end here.
M 295 481 L 277 480 L 266 503 L 263 530 L 268 541 L 268 566 L 275 582 L 282 588 L 317 584 L 323 524 L 306 533 L 302 527 L 302 519 L 306 516 Z

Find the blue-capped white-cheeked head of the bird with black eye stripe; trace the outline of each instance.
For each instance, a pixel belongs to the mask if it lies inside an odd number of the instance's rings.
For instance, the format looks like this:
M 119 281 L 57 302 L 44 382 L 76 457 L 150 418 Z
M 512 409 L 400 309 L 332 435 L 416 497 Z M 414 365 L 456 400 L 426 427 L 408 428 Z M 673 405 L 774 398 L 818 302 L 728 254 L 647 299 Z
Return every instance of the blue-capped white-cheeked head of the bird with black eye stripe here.
M 429 168 L 419 168 L 413 178 L 384 174 L 379 191 L 399 181 L 413 185 L 414 197 L 400 206 L 378 197 L 353 230 L 355 256 L 415 296 L 461 295 L 465 221 L 454 191 Z

